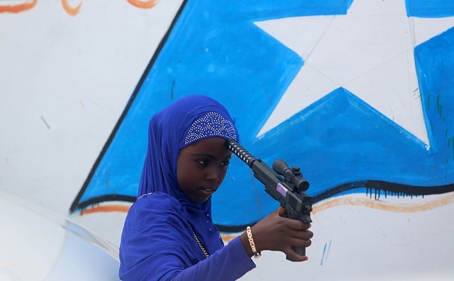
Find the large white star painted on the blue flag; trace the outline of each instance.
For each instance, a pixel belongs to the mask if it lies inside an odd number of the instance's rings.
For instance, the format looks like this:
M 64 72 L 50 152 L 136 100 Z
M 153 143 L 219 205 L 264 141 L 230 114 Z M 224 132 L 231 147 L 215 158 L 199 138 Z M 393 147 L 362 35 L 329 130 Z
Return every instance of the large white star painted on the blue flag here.
M 343 87 L 429 145 L 413 49 L 453 27 L 454 17 L 408 18 L 405 0 L 354 0 L 346 15 L 256 25 L 304 60 L 259 136 Z

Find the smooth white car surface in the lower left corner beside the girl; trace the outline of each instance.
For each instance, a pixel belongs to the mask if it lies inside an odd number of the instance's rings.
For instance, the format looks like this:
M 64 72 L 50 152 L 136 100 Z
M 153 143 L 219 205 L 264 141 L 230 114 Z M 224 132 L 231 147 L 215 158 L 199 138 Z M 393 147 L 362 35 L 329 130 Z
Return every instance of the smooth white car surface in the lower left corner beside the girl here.
M 118 247 L 0 192 L 0 280 L 119 280 Z

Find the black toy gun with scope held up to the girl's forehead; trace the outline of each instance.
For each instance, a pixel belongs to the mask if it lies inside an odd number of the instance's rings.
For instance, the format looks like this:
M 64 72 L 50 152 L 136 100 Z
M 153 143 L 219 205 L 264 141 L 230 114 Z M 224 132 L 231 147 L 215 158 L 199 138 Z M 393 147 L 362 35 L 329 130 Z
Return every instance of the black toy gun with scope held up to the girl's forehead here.
M 290 169 L 286 162 L 277 159 L 271 169 L 261 159 L 253 157 L 237 141 L 228 140 L 225 146 L 252 169 L 254 176 L 265 185 L 265 191 L 286 209 L 288 218 L 297 219 L 303 223 L 312 222 L 311 198 L 305 194 L 309 183 L 303 178 L 298 166 Z M 305 247 L 293 247 L 293 249 L 296 253 L 305 256 Z

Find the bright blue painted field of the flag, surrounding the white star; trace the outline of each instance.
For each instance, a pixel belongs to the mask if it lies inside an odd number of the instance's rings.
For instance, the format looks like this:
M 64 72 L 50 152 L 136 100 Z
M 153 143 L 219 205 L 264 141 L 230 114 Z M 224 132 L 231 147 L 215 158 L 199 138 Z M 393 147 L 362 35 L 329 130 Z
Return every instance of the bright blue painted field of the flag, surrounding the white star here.
M 242 3 L 184 1 L 71 212 L 100 202 L 134 202 L 150 117 L 194 93 L 227 107 L 241 145 L 255 157 L 270 166 L 278 158 L 300 166 L 314 203 L 353 192 L 379 199 L 454 190 L 453 28 L 414 50 L 429 146 L 342 87 L 258 136 L 305 60 L 253 22 L 345 15 L 353 1 Z M 406 1 L 405 7 L 408 17 L 454 15 L 450 0 Z M 220 229 L 239 230 L 276 207 L 248 166 L 234 158 L 213 195 Z

